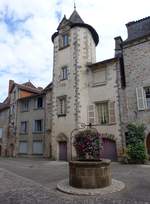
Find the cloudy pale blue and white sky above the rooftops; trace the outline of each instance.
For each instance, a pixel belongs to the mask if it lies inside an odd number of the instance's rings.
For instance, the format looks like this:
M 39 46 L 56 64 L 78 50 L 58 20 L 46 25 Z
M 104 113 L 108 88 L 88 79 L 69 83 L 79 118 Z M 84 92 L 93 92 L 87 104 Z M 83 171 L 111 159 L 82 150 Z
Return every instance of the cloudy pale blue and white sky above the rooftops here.
M 0 0 L 0 102 L 7 96 L 8 81 L 28 80 L 45 87 L 52 80 L 51 35 L 73 0 Z M 99 34 L 97 61 L 114 56 L 114 37 L 127 38 L 125 24 L 150 15 L 149 0 L 76 0 L 85 23 Z

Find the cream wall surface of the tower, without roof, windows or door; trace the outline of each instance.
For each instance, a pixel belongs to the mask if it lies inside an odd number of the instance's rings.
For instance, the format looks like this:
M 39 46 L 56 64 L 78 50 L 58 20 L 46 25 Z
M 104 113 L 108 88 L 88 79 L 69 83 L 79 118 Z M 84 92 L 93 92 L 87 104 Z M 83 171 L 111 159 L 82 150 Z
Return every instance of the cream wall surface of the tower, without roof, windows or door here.
M 59 50 L 59 35 L 54 39 L 53 69 L 53 116 L 52 147 L 53 157 L 58 159 L 58 136 L 66 136 L 68 158 L 70 157 L 69 138 L 71 131 L 81 122 L 87 122 L 88 82 L 87 63 L 95 62 L 95 43 L 87 28 L 74 27 L 69 30 L 69 46 Z M 68 67 L 68 79 L 61 80 L 62 66 Z M 67 96 L 67 114 L 57 116 L 57 97 Z

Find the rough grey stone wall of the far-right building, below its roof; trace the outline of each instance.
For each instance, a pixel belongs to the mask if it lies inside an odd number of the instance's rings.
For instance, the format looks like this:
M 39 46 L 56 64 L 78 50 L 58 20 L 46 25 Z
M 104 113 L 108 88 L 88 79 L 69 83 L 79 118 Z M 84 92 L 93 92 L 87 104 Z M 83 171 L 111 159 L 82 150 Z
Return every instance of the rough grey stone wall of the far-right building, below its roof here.
M 137 107 L 136 88 L 150 86 L 150 37 L 142 38 L 123 46 L 123 57 L 126 76 L 126 101 L 120 101 L 121 107 L 126 106 L 125 123 L 138 121 L 146 124 L 146 132 L 150 132 L 149 110 L 139 111 Z

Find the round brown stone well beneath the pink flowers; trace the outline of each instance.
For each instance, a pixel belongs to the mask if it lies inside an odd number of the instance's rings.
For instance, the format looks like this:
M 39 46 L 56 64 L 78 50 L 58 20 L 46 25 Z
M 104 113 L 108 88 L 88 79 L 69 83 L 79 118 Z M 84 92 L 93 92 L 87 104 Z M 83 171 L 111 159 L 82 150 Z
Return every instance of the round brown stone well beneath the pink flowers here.
M 104 188 L 111 185 L 110 160 L 70 161 L 69 185 L 76 188 Z

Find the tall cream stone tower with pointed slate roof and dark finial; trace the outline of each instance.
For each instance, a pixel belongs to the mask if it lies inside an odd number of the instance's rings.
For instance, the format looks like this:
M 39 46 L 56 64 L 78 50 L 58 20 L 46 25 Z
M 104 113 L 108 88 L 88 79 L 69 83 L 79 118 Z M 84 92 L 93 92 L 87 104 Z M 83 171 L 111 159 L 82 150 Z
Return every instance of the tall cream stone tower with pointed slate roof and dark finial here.
M 87 65 L 96 61 L 99 37 L 74 9 L 69 19 L 64 16 L 57 32 L 52 35 L 52 41 L 52 156 L 58 160 L 68 160 L 72 130 L 88 122 Z

